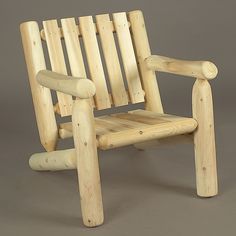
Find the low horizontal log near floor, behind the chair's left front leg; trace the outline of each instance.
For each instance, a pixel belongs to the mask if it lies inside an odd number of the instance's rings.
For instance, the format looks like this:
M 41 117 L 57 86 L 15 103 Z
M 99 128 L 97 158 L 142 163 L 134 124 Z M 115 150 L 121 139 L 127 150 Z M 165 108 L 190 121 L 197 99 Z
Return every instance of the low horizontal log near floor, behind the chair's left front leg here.
M 77 166 L 75 149 L 35 153 L 29 159 L 33 170 L 73 170 Z

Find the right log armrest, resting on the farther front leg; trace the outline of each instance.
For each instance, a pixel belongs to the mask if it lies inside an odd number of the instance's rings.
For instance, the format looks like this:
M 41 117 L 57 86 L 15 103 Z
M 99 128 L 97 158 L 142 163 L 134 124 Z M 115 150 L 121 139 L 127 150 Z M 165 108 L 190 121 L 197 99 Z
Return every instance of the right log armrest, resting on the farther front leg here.
M 215 64 L 209 61 L 184 61 L 152 55 L 145 59 L 145 64 L 150 70 L 190 76 L 198 79 L 211 80 L 218 74 Z

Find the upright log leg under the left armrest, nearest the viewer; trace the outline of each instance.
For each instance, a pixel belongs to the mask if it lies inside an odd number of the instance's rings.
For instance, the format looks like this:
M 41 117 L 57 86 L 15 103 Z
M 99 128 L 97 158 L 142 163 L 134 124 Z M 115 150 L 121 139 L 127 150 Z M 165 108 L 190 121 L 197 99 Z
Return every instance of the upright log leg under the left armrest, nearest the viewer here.
M 88 227 L 104 220 L 93 107 L 89 99 L 76 100 L 72 114 L 83 222 Z

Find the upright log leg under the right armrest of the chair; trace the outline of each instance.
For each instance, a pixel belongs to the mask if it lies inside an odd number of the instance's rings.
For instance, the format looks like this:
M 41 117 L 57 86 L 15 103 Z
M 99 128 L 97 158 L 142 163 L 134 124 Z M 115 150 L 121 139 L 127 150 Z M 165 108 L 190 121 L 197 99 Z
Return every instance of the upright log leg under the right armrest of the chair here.
M 193 117 L 198 122 L 194 132 L 197 194 L 212 197 L 218 193 L 214 115 L 211 87 L 197 79 L 193 87 Z

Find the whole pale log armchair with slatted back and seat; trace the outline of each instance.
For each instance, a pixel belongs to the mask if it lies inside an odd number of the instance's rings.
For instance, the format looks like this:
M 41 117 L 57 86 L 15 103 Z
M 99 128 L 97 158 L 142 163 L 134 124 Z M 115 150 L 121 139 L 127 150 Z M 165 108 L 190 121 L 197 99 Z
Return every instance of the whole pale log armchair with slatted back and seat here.
M 106 150 L 140 143 L 144 146 L 149 140 L 193 136 L 197 194 L 216 195 L 214 120 L 208 83 L 217 75 L 216 66 L 208 61 L 151 55 L 141 11 L 114 13 L 112 19 L 108 14 L 96 15 L 95 19 L 79 17 L 78 23 L 74 18 L 62 19 L 61 26 L 57 20 L 47 20 L 43 21 L 41 30 L 34 21 L 21 24 L 40 140 L 47 151 L 31 156 L 31 168 L 78 169 L 83 222 L 93 227 L 104 220 L 97 148 Z M 43 44 L 48 49 L 49 70 Z M 196 79 L 192 93 L 193 117 L 163 112 L 155 71 Z M 51 90 L 57 94 L 55 105 Z M 94 117 L 94 109 L 129 103 L 144 103 L 145 108 Z M 58 125 L 55 113 L 61 117 L 72 116 L 72 122 Z M 69 137 L 73 137 L 75 148 L 56 151 L 58 139 Z

